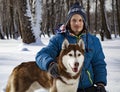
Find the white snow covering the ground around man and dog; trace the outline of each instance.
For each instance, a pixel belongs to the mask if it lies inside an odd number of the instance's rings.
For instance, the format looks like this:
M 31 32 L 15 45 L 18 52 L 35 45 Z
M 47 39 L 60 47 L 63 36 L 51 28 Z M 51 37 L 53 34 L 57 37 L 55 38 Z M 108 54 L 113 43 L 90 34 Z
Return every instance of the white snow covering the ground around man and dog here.
M 0 40 L 0 92 L 4 92 L 6 83 L 13 68 L 21 62 L 34 61 L 36 53 L 48 44 L 49 38 L 42 37 L 44 45 L 23 44 L 18 40 Z M 102 43 L 106 56 L 109 92 L 120 91 L 120 38 L 105 40 Z M 35 92 L 47 92 L 38 90 Z

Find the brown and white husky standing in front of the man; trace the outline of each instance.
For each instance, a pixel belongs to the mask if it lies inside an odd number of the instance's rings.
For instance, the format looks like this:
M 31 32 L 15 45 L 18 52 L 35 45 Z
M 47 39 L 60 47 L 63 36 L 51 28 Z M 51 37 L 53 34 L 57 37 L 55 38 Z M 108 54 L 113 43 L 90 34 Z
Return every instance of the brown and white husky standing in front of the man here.
M 53 78 L 48 72 L 41 70 L 35 61 L 18 65 L 9 77 L 6 92 L 34 92 L 39 88 L 49 92 L 77 92 L 84 62 L 82 39 L 77 44 L 69 44 L 65 39 L 57 62 L 59 78 Z

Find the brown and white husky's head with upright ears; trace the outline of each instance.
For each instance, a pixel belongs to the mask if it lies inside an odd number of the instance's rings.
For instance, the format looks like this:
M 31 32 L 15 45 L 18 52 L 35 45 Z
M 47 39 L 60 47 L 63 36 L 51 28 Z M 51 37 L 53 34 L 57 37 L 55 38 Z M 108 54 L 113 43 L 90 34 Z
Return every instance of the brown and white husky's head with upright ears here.
M 80 72 L 84 62 L 84 49 L 82 39 L 77 44 L 69 44 L 67 39 L 64 40 L 59 56 L 59 67 L 62 72 L 67 72 L 71 76 Z

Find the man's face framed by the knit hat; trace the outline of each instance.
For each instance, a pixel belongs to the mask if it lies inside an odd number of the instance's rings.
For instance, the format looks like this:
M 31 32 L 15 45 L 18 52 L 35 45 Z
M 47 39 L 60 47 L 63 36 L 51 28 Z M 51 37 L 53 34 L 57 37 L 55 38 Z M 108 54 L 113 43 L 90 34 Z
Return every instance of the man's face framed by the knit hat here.
M 74 14 L 70 19 L 70 26 L 73 33 L 78 35 L 83 30 L 83 18 L 79 14 Z

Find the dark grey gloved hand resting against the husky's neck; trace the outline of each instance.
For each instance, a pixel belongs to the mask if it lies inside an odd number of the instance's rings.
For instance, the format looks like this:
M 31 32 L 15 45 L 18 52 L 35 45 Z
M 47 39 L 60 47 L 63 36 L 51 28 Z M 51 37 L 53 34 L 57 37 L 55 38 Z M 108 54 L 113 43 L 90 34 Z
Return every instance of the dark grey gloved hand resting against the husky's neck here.
M 52 76 L 53 78 L 58 78 L 58 77 L 59 77 L 59 73 L 58 73 L 57 63 L 52 62 L 52 63 L 49 65 L 48 72 L 51 74 L 51 76 Z

